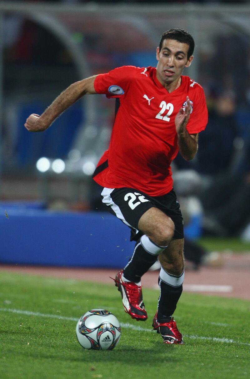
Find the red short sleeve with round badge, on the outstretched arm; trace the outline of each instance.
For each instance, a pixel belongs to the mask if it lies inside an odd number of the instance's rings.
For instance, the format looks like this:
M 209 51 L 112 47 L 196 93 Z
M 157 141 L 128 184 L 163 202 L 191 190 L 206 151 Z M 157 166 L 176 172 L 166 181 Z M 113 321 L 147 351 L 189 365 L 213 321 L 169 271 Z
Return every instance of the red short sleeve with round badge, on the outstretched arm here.
M 126 95 L 131 81 L 135 77 L 136 67 L 122 66 L 97 75 L 94 89 L 98 94 L 105 94 L 108 98 L 123 97 Z

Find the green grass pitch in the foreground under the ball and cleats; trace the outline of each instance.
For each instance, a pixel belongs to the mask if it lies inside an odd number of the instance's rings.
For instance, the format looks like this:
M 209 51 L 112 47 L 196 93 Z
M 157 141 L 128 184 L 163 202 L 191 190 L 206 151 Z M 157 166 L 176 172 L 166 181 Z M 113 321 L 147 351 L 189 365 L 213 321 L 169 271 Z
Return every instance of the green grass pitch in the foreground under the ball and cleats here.
M 175 319 L 185 345 L 164 345 L 151 331 L 157 290 L 143 288 L 149 318 L 137 322 L 112 283 L 6 272 L 0 283 L 0 378 L 250 377 L 249 301 L 183 293 Z M 75 320 L 93 308 L 110 310 L 121 323 L 112 351 L 85 350 L 75 337 Z

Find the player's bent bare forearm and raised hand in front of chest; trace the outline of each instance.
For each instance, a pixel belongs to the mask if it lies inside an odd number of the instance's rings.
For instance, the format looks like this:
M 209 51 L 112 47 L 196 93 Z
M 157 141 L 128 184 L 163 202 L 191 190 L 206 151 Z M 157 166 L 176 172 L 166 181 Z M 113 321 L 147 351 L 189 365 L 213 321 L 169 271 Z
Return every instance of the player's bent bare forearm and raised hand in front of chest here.
M 175 117 L 179 151 L 186 161 L 193 159 L 198 149 L 198 133 L 189 134 L 187 131 L 187 122 L 189 121 L 190 111 L 191 104 L 189 97 L 187 96 L 187 105 L 185 110 L 181 108 Z

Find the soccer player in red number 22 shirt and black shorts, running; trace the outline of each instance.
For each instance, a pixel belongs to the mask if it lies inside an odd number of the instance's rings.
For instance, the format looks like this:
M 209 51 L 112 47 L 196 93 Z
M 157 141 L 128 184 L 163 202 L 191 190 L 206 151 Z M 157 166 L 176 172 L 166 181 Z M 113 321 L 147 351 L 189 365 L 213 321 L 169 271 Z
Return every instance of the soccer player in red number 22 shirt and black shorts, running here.
M 172 317 L 184 280 L 184 235 L 170 164 L 178 151 L 185 160 L 195 157 L 198 133 L 208 119 L 203 89 L 182 75 L 192 63 L 193 50 L 187 31 L 170 29 L 156 49 L 157 67 L 123 66 L 77 81 L 41 116 L 31 114 L 25 123 L 30 132 L 42 132 L 85 94 L 117 99 L 110 146 L 93 177 L 103 187 L 104 204 L 137 241 L 115 278 L 124 309 L 134 319 L 148 317 L 140 280 L 159 256 L 160 296 L 153 328 L 167 344 L 184 343 Z

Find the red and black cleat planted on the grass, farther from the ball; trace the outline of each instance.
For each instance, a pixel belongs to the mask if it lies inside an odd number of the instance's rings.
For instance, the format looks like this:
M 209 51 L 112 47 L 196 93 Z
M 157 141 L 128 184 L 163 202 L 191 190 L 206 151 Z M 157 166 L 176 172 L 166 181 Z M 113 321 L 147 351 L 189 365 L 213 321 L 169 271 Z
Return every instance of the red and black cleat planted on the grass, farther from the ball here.
M 163 338 L 163 343 L 183 345 L 182 334 L 179 332 L 176 322 L 172 317 L 168 323 L 158 323 L 157 312 L 153 318 L 153 330 L 156 330 Z

